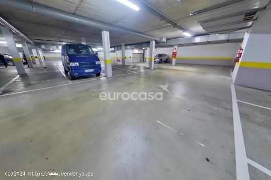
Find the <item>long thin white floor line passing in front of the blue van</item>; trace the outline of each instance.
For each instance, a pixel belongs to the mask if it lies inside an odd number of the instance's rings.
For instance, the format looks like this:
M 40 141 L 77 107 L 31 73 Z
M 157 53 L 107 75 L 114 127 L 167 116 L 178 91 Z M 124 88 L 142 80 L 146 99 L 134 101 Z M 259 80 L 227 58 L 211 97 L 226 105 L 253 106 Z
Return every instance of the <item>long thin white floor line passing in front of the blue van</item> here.
M 151 69 L 147 69 L 147 70 L 144 70 L 144 71 L 149 71 L 149 70 L 151 70 Z M 138 71 L 138 72 L 143 72 L 143 71 Z M 47 87 L 47 88 L 40 88 L 40 89 L 35 89 L 35 90 L 25 90 L 25 91 L 21 91 L 21 92 L 13 92 L 13 93 L 9 93 L 9 94 L 2 94 L 2 95 L 0 95 L 0 96 L 7 96 L 7 95 L 14 95 L 14 94 L 22 94 L 22 93 L 32 92 L 32 91 L 37 91 L 37 90 L 47 90 L 47 89 L 52 89 L 52 88 L 57 88 L 57 87 L 62 87 L 62 86 L 68 86 L 68 85 L 74 85 L 74 84 L 84 83 L 84 82 L 89 82 L 89 81 L 103 80 L 103 79 L 107 79 L 107 78 L 113 78 L 113 77 L 118 77 L 118 76 L 124 76 L 124 75 L 134 74 L 134 73 L 138 73 L 138 72 L 132 72 L 132 73 L 126 73 L 126 74 L 120 74 L 120 75 L 116 75 L 116 76 L 112 76 L 112 77 L 102 77 L 102 78 L 97 78 L 97 79 L 89 79 L 89 80 L 85 80 L 85 81 L 74 82 L 74 83 L 71 83 L 71 84 L 64 84 L 64 85 L 52 86 L 52 87 Z

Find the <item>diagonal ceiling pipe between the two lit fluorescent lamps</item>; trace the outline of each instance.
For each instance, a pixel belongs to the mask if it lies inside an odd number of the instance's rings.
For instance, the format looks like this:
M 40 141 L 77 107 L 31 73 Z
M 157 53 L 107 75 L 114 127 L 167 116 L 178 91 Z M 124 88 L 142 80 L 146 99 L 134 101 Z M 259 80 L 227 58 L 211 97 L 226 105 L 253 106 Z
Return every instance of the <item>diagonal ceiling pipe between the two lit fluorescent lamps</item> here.
M 191 30 L 186 29 L 184 26 L 182 26 L 178 22 L 174 21 L 169 16 L 167 16 L 163 12 L 159 11 L 158 9 L 156 9 L 155 7 L 153 7 L 152 5 L 147 3 L 146 1 L 144 1 L 144 0 L 139 0 L 139 1 L 141 2 L 141 4 L 143 4 L 145 7 L 147 7 L 151 11 L 153 11 L 156 15 L 158 15 L 160 18 L 165 20 L 167 23 L 171 24 L 173 27 L 178 28 L 183 31 L 186 31 L 186 32 L 189 32 L 190 34 L 194 34 Z

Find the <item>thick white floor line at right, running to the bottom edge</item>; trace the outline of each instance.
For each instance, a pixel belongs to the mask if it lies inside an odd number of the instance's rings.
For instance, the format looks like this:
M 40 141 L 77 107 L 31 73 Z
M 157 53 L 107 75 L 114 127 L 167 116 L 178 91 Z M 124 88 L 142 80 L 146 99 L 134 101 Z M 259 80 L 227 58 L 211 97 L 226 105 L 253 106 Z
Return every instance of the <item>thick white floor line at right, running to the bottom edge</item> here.
M 237 105 L 235 87 L 231 85 L 233 101 L 233 119 L 234 119 L 234 138 L 235 138 L 235 160 L 236 160 L 236 179 L 249 180 L 247 158 L 244 144 L 243 131 Z

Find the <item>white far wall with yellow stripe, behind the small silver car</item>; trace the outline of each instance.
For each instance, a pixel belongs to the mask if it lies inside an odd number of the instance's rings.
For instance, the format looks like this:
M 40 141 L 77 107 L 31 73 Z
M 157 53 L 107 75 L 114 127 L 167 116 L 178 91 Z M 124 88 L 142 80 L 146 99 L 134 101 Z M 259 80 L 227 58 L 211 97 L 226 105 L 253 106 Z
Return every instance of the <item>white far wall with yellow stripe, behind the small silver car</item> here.
M 178 47 L 176 63 L 229 65 L 234 66 L 233 58 L 241 43 L 225 43 Z M 165 53 L 171 59 L 173 47 L 156 48 L 155 54 Z

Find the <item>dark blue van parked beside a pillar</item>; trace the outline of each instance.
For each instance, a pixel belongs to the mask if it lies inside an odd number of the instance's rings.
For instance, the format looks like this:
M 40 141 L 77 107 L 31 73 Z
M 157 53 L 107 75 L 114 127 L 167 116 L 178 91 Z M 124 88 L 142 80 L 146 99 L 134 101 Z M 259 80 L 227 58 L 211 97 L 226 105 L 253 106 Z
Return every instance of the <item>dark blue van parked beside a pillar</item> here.
M 65 44 L 61 49 L 61 57 L 64 71 L 71 80 L 79 76 L 101 75 L 101 62 L 88 45 Z

